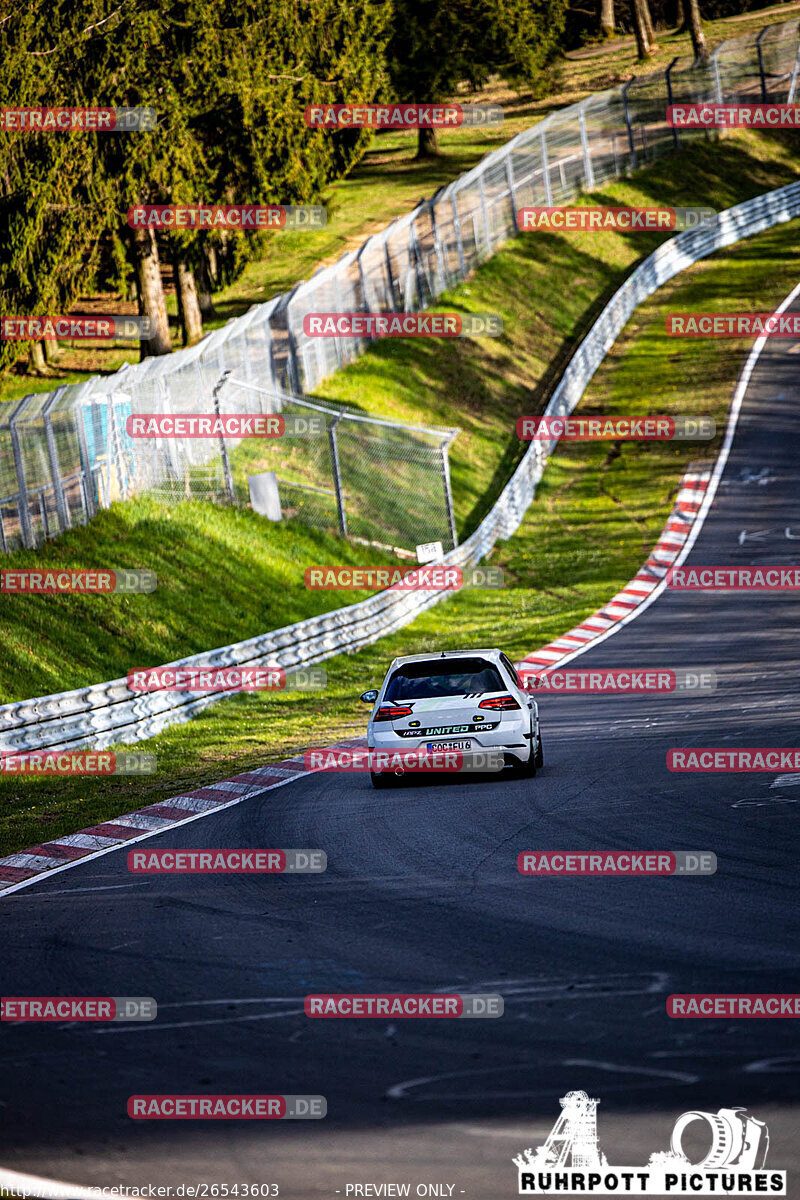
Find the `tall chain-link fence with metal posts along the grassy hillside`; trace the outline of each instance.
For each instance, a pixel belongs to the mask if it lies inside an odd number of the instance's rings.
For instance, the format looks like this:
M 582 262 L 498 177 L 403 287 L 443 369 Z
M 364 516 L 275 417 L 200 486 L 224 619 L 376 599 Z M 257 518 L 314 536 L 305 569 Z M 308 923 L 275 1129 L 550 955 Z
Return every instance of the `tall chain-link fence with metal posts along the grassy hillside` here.
M 97 506 L 145 490 L 243 502 L 246 476 L 263 470 L 278 478 L 284 511 L 312 524 L 390 545 L 453 545 L 453 431 L 318 406 L 325 433 L 281 439 L 279 446 L 144 442 L 127 436 L 126 416 L 212 413 L 225 372 L 236 390 L 230 410 L 308 412 L 313 402 L 303 394 L 357 358 L 369 338 L 309 337 L 307 313 L 423 308 L 513 236 L 519 208 L 564 203 L 687 138 L 712 136 L 670 128 L 670 103 L 792 103 L 799 71 L 796 18 L 723 42 L 706 64 L 675 59 L 666 71 L 589 96 L 518 133 L 360 250 L 198 346 L 0 409 L 2 550 L 35 546 L 89 520 Z

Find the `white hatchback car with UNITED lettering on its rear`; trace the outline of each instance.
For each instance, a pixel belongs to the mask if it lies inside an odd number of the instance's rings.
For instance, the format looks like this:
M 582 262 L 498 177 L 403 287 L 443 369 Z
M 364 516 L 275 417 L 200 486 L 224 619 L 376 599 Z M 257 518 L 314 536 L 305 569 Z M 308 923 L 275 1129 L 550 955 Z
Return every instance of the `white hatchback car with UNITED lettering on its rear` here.
M 545 763 L 539 706 L 503 650 L 443 650 L 395 659 L 374 704 L 369 750 L 503 751 L 505 764 L 535 775 Z M 386 787 L 402 772 L 371 772 Z

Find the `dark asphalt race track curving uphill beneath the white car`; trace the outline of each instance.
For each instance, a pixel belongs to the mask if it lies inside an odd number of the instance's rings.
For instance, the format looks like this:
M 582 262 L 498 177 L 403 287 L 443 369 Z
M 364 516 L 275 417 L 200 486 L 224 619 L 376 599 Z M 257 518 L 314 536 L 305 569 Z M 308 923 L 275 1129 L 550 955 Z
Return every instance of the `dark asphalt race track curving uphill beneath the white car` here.
M 798 562 L 798 350 L 776 338 L 762 354 L 690 565 Z M 792 1195 L 796 1021 L 674 1020 L 666 998 L 800 992 L 800 776 L 678 775 L 666 755 L 798 744 L 798 595 L 666 592 L 576 666 L 709 667 L 718 688 L 542 700 L 535 780 L 375 792 L 315 775 L 142 844 L 319 847 L 321 876 L 136 877 L 122 850 L 0 901 L 5 996 L 160 1006 L 150 1025 L 4 1025 L 0 1162 L 76 1184 L 273 1182 L 333 1200 L 408 1181 L 495 1200 L 582 1088 L 601 1099 L 609 1163 L 668 1148 L 686 1110 L 747 1108 Z M 517 872 L 523 850 L 597 848 L 714 851 L 718 870 Z M 499 991 L 505 1016 L 302 1012 L 309 991 L 445 989 Z M 131 1094 L 167 1092 L 323 1094 L 327 1118 L 127 1117 Z

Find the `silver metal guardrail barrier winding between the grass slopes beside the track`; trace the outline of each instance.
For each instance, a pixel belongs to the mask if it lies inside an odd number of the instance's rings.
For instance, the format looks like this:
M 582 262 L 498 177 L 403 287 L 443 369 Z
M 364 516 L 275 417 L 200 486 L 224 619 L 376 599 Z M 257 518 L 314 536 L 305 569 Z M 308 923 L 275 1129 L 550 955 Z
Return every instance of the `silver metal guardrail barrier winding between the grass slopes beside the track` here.
M 663 283 L 723 246 L 796 216 L 800 216 L 800 182 L 727 209 L 712 222 L 680 233 L 658 246 L 606 305 L 570 360 L 546 414 L 557 416 L 573 412 L 633 311 Z M 492 510 L 467 541 L 445 556 L 445 563 L 458 566 L 477 563 L 498 539 L 510 538 L 516 532 L 555 443 L 555 438 L 530 443 Z M 320 662 L 335 654 L 356 650 L 399 629 L 447 594 L 381 592 L 360 604 L 170 665 L 200 668 L 275 664 L 287 668 Z M 114 743 L 138 742 L 168 725 L 188 720 L 224 695 L 229 694 L 154 692 L 133 696 L 125 679 L 115 679 L 77 691 L 4 704 L 0 707 L 0 751 L 86 744 L 103 749 Z

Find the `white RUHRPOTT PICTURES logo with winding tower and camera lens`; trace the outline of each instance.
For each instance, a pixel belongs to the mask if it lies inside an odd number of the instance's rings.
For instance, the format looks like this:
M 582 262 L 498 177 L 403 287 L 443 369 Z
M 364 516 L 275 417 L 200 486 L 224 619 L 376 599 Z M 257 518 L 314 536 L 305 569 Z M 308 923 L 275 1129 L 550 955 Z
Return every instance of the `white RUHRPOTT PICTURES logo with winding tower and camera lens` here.
M 769 1130 L 745 1109 L 684 1112 L 668 1151 L 650 1154 L 646 1166 L 609 1166 L 597 1138 L 597 1105 L 585 1092 L 567 1092 L 547 1140 L 513 1159 L 523 1195 L 572 1196 L 784 1196 L 786 1171 L 765 1170 Z M 684 1151 L 686 1129 L 705 1123 L 711 1147 L 692 1163 Z

